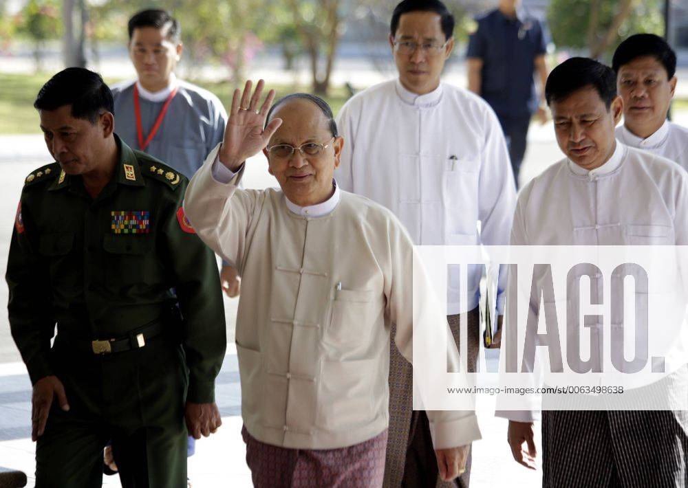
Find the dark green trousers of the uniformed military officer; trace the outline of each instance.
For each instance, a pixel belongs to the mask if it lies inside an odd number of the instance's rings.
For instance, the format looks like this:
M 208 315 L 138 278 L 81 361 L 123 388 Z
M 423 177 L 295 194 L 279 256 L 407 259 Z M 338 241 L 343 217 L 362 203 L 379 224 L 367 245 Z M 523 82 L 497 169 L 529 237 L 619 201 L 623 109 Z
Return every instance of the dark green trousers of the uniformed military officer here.
M 36 444 L 36 488 L 103 484 L 109 439 L 122 487 L 186 487 L 186 365 L 166 337 L 144 348 L 88 356 L 60 344 L 52 362 L 69 412 L 53 403 Z

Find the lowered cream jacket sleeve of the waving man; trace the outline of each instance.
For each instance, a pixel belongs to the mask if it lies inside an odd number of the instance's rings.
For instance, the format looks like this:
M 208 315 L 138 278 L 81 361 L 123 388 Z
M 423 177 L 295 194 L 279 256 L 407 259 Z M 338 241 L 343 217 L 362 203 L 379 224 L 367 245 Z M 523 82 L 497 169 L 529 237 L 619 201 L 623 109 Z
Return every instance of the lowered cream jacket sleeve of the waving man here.
M 443 343 L 442 336 L 449 338 L 451 333 L 447 317 L 439 310 L 438 300 L 429 295 L 432 293 L 429 277 L 424 269 L 418 269 L 418 267 L 413 269 L 415 251 L 411 238 L 396 217 L 391 214 L 390 217 L 387 229 L 390 247 L 389 272 L 385 273 L 387 313 L 391 321 L 396 323 L 396 346 L 407 361 L 412 363 L 414 324 L 416 324 L 416 333 L 431 335 L 431 340 L 427 344 Z M 415 287 L 414 273 L 416 274 Z M 451 345 L 447 352 L 448 370 L 459 371 L 458 351 L 453 342 L 449 344 Z M 429 353 L 436 354 L 437 351 L 429 351 Z M 422 387 L 420 395 L 423 395 Z M 427 416 L 435 449 L 459 447 L 481 438 L 477 417 L 473 410 L 427 410 Z

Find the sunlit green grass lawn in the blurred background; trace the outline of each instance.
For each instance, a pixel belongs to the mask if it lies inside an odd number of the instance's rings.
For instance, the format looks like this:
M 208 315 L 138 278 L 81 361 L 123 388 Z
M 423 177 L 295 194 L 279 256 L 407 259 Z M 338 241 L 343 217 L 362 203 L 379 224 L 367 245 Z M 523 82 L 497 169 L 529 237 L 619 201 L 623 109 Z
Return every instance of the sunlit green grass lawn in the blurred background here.
M 0 135 L 40 133 L 39 115 L 33 107 L 36 94 L 52 74 L 2 74 L 0 73 Z M 105 80 L 109 85 L 120 80 Z M 227 82 L 197 82 L 197 85 L 212 91 L 222 100 L 226 107 L 231 103 L 234 90 Z M 294 91 L 310 91 L 309 87 L 275 86 L 277 97 Z M 327 102 L 336 114 L 346 102 L 348 93 L 343 87 L 330 89 Z

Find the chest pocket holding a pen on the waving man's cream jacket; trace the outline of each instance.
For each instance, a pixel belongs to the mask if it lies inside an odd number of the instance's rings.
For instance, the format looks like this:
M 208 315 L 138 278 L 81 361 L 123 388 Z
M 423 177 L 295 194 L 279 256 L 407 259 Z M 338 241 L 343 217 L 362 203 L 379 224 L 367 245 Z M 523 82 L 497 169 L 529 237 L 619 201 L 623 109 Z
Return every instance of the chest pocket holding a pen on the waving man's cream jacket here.
M 335 290 L 325 342 L 333 346 L 366 346 L 378 324 L 380 304 L 369 290 Z

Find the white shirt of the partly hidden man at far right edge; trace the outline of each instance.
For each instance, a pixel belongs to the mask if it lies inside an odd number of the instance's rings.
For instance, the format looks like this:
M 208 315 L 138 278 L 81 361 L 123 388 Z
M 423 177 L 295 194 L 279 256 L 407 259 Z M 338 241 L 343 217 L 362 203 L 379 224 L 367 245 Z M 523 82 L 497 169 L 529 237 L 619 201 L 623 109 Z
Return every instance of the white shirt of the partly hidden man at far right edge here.
M 665 120 L 657 131 L 643 139 L 625 125 L 616 127 L 616 138 L 627 146 L 666 157 L 688 170 L 688 129 Z

